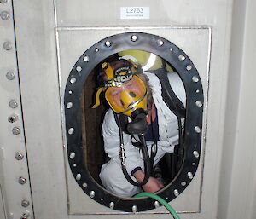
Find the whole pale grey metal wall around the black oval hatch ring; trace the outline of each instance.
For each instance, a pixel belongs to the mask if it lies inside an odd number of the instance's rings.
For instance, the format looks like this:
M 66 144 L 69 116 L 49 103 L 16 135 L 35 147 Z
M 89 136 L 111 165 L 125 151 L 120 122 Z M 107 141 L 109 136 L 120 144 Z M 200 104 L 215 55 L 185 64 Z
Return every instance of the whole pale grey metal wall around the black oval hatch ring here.
M 121 19 L 120 7 L 128 6 L 149 7 L 150 16 Z M 171 205 L 181 218 L 255 218 L 255 6 L 253 0 L 0 0 L 1 218 L 170 217 L 163 207 L 123 214 L 97 204 L 67 165 L 67 76 L 93 43 L 130 31 L 176 43 L 203 82 L 201 165 Z

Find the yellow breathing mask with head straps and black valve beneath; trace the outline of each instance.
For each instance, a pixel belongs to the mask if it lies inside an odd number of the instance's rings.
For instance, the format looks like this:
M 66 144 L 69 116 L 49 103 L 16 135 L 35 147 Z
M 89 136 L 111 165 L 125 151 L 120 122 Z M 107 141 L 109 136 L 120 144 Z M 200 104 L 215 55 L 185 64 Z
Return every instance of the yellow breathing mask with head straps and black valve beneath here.
M 100 105 L 100 94 L 105 92 L 108 105 L 116 113 L 131 117 L 127 130 L 141 134 L 147 130 L 147 87 L 140 78 L 140 69 L 132 62 L 118 60 L 102 64 L 103 85 L 96 92 L 96 104 Z

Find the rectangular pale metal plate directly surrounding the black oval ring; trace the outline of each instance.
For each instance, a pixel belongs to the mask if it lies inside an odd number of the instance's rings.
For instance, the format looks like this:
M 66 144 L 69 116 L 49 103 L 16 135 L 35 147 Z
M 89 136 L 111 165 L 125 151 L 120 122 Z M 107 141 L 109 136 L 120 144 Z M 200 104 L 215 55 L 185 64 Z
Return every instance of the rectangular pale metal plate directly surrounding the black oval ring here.
M 175 43 L 183 51 L 189 55 L 190 59 L 194 62 L 198 72 L 200 73 L 205 99 L 207 102 L 207 89 L 208 89 L 208 66 L 210 60 L 210 38 L 211 29 L 207 26 L 197 27 L 141 27 L 141 28 L 57 28 L 58 36 L 58 55 L 59 55 L 59 70 L 61 80 L 61 113 L 64 115 L 64 89 L 66 87 L 67 77 L 74 65 L 79 59 L 79 56 L 84 53 L 86 49 L 89 49 L 91 45 L 101 40 L 104 37 L 111 36 L 120 32 L 148 32 L 165 37 L 167 40 Z M 86 39 L 86 40 L 84 40 Z M 75 43 L 68 43 L 75 42 Z M 193 42 L 193 43 L 191 43 Z M 204 119 L 207 117 L 207 104 L 205 105 Z M 65 136 L 66 130 L 64 125 L 65 118 L 62 118 L 63 135 Z M 205 125 L 204 125 L 205 126 Z M 205 135 L 205 130 L 203 135 Z M 65 141 L 64 141 L 65 142 Z M 66 143 L 65 143 L 66 144 Z M 202 146 L 202 151 L 204 145 Z M 203 153 L 202 153 L 203 154 Z M 67 156 L 66 156 L 67 157 Z M 196 176 L 193 179 L 191 185 L 171 203 L 177 211 L 180 212 L 200 212 L 201 204 L 201 179 L 202 179 L 202 164 L 203 155 L 201 158 L 200 168 L 197 170 Z M 69 197 L 69 212 L 71 214 L 98 214 L 98 213 L 113 213 L 113 210 L 102 207 L 102 205 L 96 204 L 91 200 L 78 186 L 71 175 L 70 168 L 67 164 L 67 185 L 68 185 L 68 197 Z M 89 199 L 89 200 L 88 200 Z M 159 210 L 151 210 L 151 212 L 161 212 L 163 208 Z M 165 210 L 164 210 L 165 211 Z

